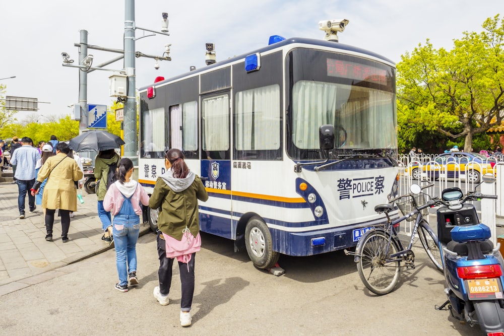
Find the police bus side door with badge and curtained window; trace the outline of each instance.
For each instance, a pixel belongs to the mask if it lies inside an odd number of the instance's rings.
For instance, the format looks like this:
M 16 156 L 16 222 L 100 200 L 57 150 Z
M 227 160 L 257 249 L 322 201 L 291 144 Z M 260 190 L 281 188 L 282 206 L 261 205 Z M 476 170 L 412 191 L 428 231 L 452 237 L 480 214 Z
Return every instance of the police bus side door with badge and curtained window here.
M 200 203 L 204 232 L 233 239 L 229 90 L 201 96 L 201 177 L 209 198 Z

